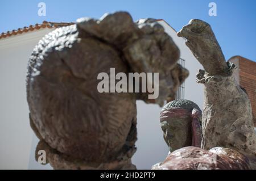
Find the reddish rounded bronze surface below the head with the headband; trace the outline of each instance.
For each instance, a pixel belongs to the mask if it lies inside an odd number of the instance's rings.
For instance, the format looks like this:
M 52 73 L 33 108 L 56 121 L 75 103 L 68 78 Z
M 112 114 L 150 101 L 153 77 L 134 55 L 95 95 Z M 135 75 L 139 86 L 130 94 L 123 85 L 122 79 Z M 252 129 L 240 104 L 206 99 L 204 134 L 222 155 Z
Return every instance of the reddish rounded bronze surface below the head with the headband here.
M 228 148 L 209 151 L 193 146 L 176 150 L 163 163 L 152 166 L 154 170 L 250 170 L 249 159 Z

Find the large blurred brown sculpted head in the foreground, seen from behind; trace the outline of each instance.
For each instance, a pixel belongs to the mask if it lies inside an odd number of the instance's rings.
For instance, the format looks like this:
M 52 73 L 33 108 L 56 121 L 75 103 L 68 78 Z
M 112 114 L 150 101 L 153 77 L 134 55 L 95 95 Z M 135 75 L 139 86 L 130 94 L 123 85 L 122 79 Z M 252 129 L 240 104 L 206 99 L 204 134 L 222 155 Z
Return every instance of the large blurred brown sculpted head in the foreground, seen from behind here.
M 27 73 L 31 127 L 37 150 L 54 169 L 135 169 L 136 100 L 162 105 L 188 71 L 179 49 L 154 19 L 133 22 L 127 12 L 81 18 L 36 45 Z M 99 73 L 159 73 L 159 97 L 148 92 L 97 91 Z M 179 77 L 179 79 L 173 79 Z M 153 84 L 154 82 L 152 82 Z

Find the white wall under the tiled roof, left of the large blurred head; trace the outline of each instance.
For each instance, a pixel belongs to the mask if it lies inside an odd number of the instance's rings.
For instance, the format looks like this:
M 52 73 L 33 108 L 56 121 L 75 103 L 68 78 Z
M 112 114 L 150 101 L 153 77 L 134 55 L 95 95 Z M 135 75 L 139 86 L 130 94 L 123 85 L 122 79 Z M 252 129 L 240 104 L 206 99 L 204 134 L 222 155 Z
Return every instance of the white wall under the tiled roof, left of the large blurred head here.
M 0 39 L 0 169 L 27 169 L 32 130 L 26 99 L 27 62 L 49 30 Z

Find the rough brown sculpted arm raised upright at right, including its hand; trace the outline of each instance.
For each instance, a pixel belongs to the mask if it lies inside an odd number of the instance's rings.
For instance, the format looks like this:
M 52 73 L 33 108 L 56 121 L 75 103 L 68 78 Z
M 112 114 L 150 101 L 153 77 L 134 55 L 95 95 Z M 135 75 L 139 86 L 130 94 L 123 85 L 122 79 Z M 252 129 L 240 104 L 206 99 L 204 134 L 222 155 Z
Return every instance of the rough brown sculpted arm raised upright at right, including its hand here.
M 201 148 L 223 146 L 255 159 L 256 135 L 251 104 L 232 75 L 236 66 L 225 61 L 208 23 L 193 19 L 177 35 L 187 39 L 186 45 L 205 69 L 197 74 L 197 82 L 205 86 Z

